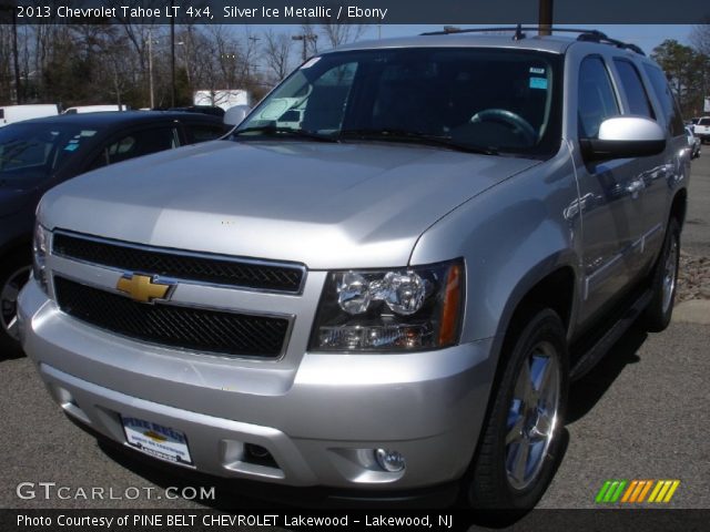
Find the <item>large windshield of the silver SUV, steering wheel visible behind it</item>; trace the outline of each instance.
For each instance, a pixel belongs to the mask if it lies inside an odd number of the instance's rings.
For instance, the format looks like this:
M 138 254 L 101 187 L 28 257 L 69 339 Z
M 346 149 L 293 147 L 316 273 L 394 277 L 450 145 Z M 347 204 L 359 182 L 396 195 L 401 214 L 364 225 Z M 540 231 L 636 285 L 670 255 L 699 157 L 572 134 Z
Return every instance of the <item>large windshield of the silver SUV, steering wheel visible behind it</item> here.
M 327 53 L 275 89 L 233 139 L 449 142 L 550 156 L 560 142 L 560 65 L 556 54 L 507 49 Z

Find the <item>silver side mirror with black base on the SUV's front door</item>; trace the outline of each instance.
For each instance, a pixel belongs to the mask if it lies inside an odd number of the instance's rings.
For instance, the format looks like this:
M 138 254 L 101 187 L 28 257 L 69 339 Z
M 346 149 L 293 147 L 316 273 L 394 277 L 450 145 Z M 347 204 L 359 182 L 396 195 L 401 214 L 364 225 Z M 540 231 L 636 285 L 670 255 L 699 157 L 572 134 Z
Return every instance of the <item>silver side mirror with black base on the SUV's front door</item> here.
M 645 116 L 615 116 L 599 126 L 598 139 L 580 139 L 585 161 L 645 157 L 666 150 L 666 133 Z

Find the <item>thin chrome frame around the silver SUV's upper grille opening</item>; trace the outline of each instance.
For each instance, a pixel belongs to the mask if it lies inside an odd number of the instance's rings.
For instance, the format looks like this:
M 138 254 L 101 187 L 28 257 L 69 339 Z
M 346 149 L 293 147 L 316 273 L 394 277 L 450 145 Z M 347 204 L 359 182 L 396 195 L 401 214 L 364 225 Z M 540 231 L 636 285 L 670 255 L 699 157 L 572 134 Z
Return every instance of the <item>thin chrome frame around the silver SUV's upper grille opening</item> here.
M 83 241 L 89 241 L 89 242 L 97 242 L 100 244 L 109 244 L 112 246 L 120 246 L 120 247 L 129 247 L 129 248 L 133 248 L 133 249 L 140 249 L 143 252 L 152 252 L 152 253 L 159 253 L 159 254 L 163 254 L 163 255 L 175 255 L 175 256 L 189 256 L 189 257 L 195 257 L 195 258 L 205 258 L 209 260 L 226 260 L 230 263 L 234 263 L 234 264 L 246 264 L 246 265 L 252 265 L 252 266 L 266 266 L 266 267 L 280 267 L 280 268 L 290 268 L 290 269 L 297 269 L 301 272 L 301 285 L 298 286 L 297 290 L 272 290 L 272 289 L 267 289 L 267 288 L 254 288 L 254 287 L 250 287 L 250 286 L 242 286 L 242 285 L 236 285 L 236 284 L 223 284 L 223 283 L 209 283 L 209 282 L 203 282 L 203 280 L 194 280 L 194 279 L 189 279 L 189 278 L 178 278 L 178 277 L 160 277 L 163 280 L 168 280 L 171 279 L 173 282 L 176 283 L 184 283 L 184 284 L 190 284 L 190 285 L 199 285 L 199 286 L 211 286 L 211 287 L 216 287 L 216 288 L 235 288 L 235 289 L 240 289 L 240 290 L 244 290 L 244 291 L 258 291 L 258 293 L 265 293 L 265 294 L 284 294 L 284 295 L 291 295 L 291 296 L 301 296 L 303 295 L 303 288 L 306 284 L 306 276 L 308 274 L 308 268 L 306 268 L 306 266 L 304 264 L 298 264 L 298 263 L 284 263 L 284 262 L 278 262 L 278 260 L 267 260 L 267 259 L 261 259 L 261 258 L 246 258 L 246 257 L 235 257 L 232 255 L 219 255 L 219 254 L 214 254 L 214 253 L 201 253 L 201 252 L 191 252 L 187 249 L 175 249 L 172 247 L 159 247 L 159 246 L 150 246 L 146 244 L 135 244 L 135 243 L 131 243 L 131 242 L 124 242 L 124 241 L 116 241 L 113 238 L 102 238 L 99 236 L 92 236 L 92 235 L 87 235 L 83 233 L 74 233 L 71 231 L 65 231 L 65 229 L 54 229 L 51 232 L 52 234 L 52 238 L 51 238 L 51 244 L 49 246 L 50 250 L 49 253 L 52 255 L 57 255 L 59 257 L 63 257 L 67 258 L 69 260 L 73 260 L 77 263 L 82 263 L 82 264 L 89 264 L 91 266 L 100 266 L 102 268 L 106 268 L 106 269 L 111 269 L 114 272 L 128 272 L 126 269 L 123 268 L 118 268 L 115 266 L 110 266 L 110 265 L 105 265 L 105 264 L 101 264 L 101 263 L 92 263 L 90 260 L 83 260 L 81 258 L 77 258 L 77 257 L 72 257 L 69 255 L 63 255 L 61 253 L 57 253 L 54 250 L 54 235 L 64 235 L 64 236 L 69 236 L 71 238 L 78 238 L 78 239 L 83 239 Z M 154 276 L 155 272 L 134 272 L 136 274 L 143 274 L 143 275 L 151 275 Z M 156 277 L 158 278 L 158 277 Z

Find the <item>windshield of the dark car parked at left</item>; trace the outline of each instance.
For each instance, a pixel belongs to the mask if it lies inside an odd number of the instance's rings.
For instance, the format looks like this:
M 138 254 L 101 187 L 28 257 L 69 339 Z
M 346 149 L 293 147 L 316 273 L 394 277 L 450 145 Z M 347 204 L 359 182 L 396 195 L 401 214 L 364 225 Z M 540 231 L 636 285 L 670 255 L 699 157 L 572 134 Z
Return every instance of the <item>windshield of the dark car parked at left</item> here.
M 97 130 L 72 124 L 12 124 L 0 129 L 0 180 L 41 180 L 81 153 Z

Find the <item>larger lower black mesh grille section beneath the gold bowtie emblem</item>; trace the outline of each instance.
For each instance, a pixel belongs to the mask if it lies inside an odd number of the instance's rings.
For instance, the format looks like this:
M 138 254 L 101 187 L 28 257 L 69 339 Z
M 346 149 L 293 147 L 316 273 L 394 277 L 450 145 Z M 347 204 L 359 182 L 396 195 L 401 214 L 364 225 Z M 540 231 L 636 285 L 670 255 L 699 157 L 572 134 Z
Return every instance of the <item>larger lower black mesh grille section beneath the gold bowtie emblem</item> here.
M 148 305 L 54 277 L 62 311 L 88 324 L 153 344 L 224 355 L 276 358 L 288 319 L 175 305 Z

